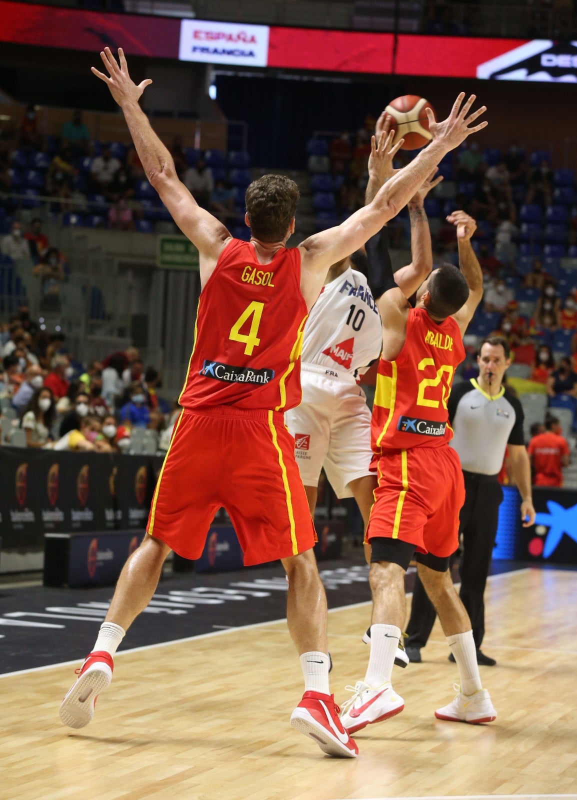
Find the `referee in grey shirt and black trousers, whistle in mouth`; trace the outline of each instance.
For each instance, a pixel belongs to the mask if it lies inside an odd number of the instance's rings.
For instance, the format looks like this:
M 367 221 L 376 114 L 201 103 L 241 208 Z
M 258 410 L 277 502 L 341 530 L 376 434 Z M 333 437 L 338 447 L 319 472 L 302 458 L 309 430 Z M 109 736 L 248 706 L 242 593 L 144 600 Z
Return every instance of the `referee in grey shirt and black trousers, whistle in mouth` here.
M 523 527 L 535 522 L 531 498 L 531 464 L 523 439 L 523 408 L 505 389 L 503 376 L 511 364 L 510 348 L 502 336 L 483 339 L 477 357 L 479 378 L 457 384 L 448 401 L 449 422 L 455 432 L 451 440 L 465 478 L 465 503 L 459 514 L 463 535 L 461 591 L 459 596 L 471 618 L 477 662 L 495 666 L 480 650 L 485 633 L 483 594 L 495 546 L 499 505 L 503 490 L 497 475 L 509 446 L 511 471 L 521 493 Z M 411 618 L 405 650 L 411 662 L 420 662 L 420 650 L 427 644 L 435 624 L 435 609 L 415 578 Z M 451 656 L 449 657 L 451 658 Z

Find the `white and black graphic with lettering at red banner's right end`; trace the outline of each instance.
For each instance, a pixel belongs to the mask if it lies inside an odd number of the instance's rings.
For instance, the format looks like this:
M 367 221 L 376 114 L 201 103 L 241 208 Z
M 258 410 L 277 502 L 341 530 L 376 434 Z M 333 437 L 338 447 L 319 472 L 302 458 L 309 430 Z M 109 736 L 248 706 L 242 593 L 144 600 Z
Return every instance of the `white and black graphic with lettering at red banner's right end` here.
M 477 78 L 577 83 L 577 42 L 533 39 L 479 64 Z

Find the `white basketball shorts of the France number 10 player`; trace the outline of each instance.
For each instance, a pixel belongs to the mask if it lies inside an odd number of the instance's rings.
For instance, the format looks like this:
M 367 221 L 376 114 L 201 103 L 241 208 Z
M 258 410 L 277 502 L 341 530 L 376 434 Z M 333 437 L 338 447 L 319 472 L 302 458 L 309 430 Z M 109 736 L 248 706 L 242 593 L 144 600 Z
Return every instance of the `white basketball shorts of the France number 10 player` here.
M 371 410 L 350 373 L 316 364 L 301 365 L 303 401 L 285 413 L 295 437 L 295 457 L 305 486 L 318 486 L 321 470 L 338 498 L 350 498 L 348 484 L 374 475 Z

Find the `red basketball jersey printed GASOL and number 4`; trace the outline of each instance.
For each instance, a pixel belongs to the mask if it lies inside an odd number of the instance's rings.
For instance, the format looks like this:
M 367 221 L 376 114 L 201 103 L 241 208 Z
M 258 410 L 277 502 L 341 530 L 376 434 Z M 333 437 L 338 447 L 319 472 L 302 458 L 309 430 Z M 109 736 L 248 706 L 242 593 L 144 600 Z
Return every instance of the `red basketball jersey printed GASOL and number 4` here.
M 300 266 L 297 248 L 282 247 L 260 264 L 250 242 L 226 245 L 198 300 L 183 408 L 299 405 L 307 320 Z

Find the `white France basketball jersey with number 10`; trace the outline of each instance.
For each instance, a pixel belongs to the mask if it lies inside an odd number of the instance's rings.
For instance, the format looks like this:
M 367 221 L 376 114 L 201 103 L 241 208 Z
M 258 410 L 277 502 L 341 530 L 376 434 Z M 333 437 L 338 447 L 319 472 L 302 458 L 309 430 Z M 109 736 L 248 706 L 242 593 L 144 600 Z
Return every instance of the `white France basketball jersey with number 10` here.
M 381 318 L 367 278 L 351 267 L 323 286 L 304 330 L 303 364 L 348 372 L 359 379 L 383 343 Z

